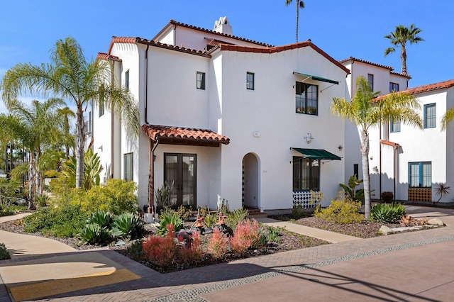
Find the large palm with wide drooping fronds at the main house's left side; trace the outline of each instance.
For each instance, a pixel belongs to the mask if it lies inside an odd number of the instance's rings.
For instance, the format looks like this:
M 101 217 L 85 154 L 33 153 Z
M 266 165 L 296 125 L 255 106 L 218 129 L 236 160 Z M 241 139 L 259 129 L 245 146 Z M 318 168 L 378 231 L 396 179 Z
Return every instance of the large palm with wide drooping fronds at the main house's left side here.
M 18 64 L 4 75 L 2 98 L 7 108 L 18 94 L 48 94 L 72 101 L 76 107 L 76 187 L 84 186 L 85 128 L 84 108 L 100 101 L 113 108 L 128 133 L 138 135 L 138 105 L 124 87 L 111 84 L 109 63 L 87 62 L 82 47 L 74 38 L 57 40 L 50 56 L 51 64 Z

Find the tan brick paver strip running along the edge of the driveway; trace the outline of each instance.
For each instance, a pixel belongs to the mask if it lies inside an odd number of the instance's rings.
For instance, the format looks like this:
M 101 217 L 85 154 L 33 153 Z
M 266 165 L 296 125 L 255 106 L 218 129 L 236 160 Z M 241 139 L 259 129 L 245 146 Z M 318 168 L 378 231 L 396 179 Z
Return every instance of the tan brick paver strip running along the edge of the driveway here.
M 48 297 L 45 301 L 204 301 L 199 296 L 203 293 L 279 276 L 282 272 L 297 272 L 310 267 L 454 240 L 453 234 L 454 227 L 448 226 L 309 247 L 169 274 L 155 272 L 113 250 L 101 250 L 101 255 L 118 262 L 141 279 L 65 293 Z M 3 281 L 1 282 L 0 298 L 3 298 L 7 293 Z

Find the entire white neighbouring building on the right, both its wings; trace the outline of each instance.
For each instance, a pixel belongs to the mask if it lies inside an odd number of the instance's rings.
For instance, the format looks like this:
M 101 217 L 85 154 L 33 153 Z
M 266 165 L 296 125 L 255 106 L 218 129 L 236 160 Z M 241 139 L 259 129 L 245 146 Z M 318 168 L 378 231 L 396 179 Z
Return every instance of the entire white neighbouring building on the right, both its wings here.
M 381 192 L 391 191 L 396 200 L 438 201 L 441 196 L 434 194 L 436 184 L 445 183 L 454 188 L 451 172 L 454 125 L 441 131 L 441 117 L 454 106 L 454 80 L 409 89 L 411 77 L 393 72 L 392 67 L 354 57 L 341 63 L 350 69 L 347 76 L 350 96 L 355 93 L 355 79 L 362 76 L 382 95 L 405 91 L 421 103 L 423 130 L 392 122 L 370 129 L 370 185 L 375 194 L 372 198 L 380 199 Z M 353 174 L 362 179 L 358 129 L 345 123 L 345 133 L 345 179 Z M 453 198 L 454 191 L 450 191 L 440 202 L 452 202 Z

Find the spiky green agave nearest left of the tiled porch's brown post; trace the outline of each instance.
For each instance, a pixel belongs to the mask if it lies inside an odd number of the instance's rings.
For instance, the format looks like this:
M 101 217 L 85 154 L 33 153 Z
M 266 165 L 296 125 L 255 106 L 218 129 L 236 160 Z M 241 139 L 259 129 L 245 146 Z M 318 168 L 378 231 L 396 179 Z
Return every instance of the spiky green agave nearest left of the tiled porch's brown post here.
M 130 240 L 143 237 L 145 228 L 143 221 L 131 213 L 123 213 L 114 219 L 112 224 L 112 235 Z

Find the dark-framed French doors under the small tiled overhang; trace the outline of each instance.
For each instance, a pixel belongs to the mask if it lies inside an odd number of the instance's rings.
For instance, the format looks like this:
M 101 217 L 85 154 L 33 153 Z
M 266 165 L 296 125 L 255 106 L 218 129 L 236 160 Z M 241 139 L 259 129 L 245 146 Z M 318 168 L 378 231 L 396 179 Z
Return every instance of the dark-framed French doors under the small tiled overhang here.
M 196 167 L 195 154 L 165 153 L 164 180 L 173 184 L 172 206 L 196 208 Z

